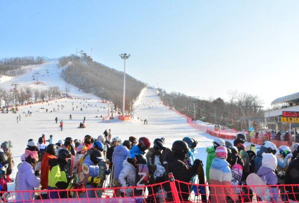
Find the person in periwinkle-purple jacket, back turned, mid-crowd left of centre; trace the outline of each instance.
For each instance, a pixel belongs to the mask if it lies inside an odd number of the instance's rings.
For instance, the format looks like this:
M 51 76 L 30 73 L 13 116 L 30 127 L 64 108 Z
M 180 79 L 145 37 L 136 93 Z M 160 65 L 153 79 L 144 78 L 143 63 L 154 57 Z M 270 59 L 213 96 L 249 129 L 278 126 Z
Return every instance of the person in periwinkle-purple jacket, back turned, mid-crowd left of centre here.
M 123 162 L 130 157 L 130 151 L 126 146 L 128 140 L 125 140 L 123 145 L 118 145 L 114 148 L 114 152 L 112 154 L 112 163 L 113 163 L 113 179 L 115 187 L 121 187 L 119 182 L 119 176 L 123 169 Z M 116 190 L 116 197 L 120 196 L 120 191 Z

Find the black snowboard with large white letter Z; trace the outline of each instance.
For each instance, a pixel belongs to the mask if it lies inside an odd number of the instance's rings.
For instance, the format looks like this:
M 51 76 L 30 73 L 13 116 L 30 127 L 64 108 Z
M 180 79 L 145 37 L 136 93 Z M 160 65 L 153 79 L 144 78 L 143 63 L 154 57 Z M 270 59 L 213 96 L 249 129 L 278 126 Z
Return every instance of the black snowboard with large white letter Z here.
M 136 186 L 142 186 L 140 188 L 135 188 L 135 196 L 143 196 L 145 191 L 145 185 L 149 181 L 149 168 L 146 164 L 138 164 L 136 168 Z

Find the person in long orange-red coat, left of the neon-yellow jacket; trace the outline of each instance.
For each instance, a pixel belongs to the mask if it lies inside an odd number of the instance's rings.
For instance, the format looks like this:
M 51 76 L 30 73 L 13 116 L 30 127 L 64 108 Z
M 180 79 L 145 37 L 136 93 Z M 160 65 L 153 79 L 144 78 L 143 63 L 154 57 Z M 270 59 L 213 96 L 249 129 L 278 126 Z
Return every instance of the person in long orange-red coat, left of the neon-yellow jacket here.
M 48 174 L 49 174 L 49 160 L 56 159 L 56 150 L 57 147 L 55 144 L 49 144 L 46 148 L 46 152 L 44 153 L 41 160 L 41 170 L 40 170 L 40 185 L 41 190 L 48 189 Z

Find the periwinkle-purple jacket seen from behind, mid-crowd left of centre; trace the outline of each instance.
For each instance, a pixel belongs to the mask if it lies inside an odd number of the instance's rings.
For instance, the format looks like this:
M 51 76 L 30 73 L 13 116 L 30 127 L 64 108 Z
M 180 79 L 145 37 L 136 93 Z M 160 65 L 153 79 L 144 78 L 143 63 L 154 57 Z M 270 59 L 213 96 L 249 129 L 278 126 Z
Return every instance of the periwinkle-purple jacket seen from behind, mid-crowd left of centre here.
M 130 157 L 129 149 L 124 145 L 119 145 L 114 148 L 114 152 L 112 154 L 112 162 L 113 162 L 113 178 L 118 179 L 120 173 L 123 169 L 123 162 L 128 157 Z

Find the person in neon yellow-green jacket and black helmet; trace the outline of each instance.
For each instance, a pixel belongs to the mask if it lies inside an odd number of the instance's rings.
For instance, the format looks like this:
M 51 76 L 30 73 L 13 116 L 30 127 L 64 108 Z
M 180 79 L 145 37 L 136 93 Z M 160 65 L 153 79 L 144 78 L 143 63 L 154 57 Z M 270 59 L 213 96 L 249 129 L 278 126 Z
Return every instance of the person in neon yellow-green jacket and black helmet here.
M 72 177 L 67 177 L 64 166 L 71 158 L 71 152 L 67 149 L 60 149 L 57 159 L 49 160 L 48 190 L 71 189 Z M 51 199 L 70 197 L 66 191 L 50 192 Z

